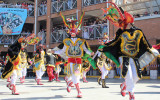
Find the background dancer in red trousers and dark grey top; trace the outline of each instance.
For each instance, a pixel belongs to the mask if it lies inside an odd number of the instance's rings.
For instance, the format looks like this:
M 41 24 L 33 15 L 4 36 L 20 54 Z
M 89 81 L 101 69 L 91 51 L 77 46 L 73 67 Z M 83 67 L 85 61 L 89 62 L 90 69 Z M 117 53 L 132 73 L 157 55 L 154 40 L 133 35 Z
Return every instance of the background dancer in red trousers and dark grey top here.
M 55 68 L 55 56 L 51 53 L 51 49 L 48 49 L 46 54 L 46 66 L 47 66 L 47 74 L 49 77 L 48 82 L 52 82 L 55 76 L 53 75 L 53 70 Z

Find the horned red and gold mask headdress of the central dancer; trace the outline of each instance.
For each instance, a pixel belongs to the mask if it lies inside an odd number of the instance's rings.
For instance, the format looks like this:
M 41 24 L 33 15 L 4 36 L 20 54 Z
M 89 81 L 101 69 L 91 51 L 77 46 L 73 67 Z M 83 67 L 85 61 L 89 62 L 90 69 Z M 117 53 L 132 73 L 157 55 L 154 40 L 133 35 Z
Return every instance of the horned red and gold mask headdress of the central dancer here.
M 61 15 L 61 17 L 63 19 L 64 25 L 68 28 L 68 33 L 70 33 L 70 34 L 72 34 L 72 33 L 78 34 L 80 32 L 80 28 L 81 28 L 81 24 L 82 24 L 82 19 L 84 17 L 84 12 L 83 12 L 82 16 L 80 17 L 78 25 L 76 25 L 77 19 L 74 19 L 73 17 L 72 17 L 72 19 L 70 19 L 70 18 L 66 19 L 62 15 L 61 12 L 60 12 L 60 15 Z M 66 22 L 66 20 L 67 20 L 67 22 Z

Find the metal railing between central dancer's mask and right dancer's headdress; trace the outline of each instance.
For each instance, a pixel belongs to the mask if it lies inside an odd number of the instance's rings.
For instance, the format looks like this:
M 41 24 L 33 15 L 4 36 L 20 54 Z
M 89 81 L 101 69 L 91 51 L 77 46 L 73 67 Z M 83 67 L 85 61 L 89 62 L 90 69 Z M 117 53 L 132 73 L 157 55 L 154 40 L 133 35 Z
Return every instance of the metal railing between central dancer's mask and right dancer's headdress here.
M 82 27 L 82 37 L 84 39 L 99 39 L 103 38 L 104 33 L 108 33 L 107 24 L 98 24 Z

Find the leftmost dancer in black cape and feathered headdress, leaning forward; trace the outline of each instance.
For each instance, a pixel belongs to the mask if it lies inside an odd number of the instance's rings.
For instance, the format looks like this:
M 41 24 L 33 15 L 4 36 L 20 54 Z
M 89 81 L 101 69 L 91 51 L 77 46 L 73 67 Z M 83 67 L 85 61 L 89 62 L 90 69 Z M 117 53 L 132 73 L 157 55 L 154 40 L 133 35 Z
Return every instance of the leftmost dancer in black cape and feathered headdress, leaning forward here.
M 34 39 L 35 39 L 34 34 L 31 34 L 28 37 L 19 38 L 18 41 L 16 41 L 14 44 L 12 44 L 8 48 L 8 61 L 6 61 L 7 64 L 4 67 L 4 71 L 1 77 L 2 79 L 7 79 L 11 77 L 11 81 L 9 84 L 7 84 L 7 87 L 12 91 L 13 95 L 19 95 L 19 93 L 16 92 L 15 84 L 16 84 L 18 75 L 21 73 L 21 70 L 19 68 L 22 61 L 21 49 L 25 48 L 27 44 L 30 44 L 30 45 L 36 44 L 40 40 L 38 37 L 36 38 L 37 41 L 34 41 Z

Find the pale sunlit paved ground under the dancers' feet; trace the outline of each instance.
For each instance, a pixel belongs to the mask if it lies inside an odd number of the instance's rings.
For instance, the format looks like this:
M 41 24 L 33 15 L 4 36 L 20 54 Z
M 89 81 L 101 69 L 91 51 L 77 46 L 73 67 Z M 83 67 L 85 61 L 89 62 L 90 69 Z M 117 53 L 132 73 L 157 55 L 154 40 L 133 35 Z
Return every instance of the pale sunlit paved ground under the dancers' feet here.
M 17 90 L 20 95 L 11 95 L 11 91 L 6 87 L 6 80 L 0 79 L 0 100 L 129 100 L 120 95 L 119 85 L 123 79 L 106 79 L 109 89 L 101 88 L 95 78 L 88 79 L 89 83 L 81 82 L 80 87 L 83 98 L 76 98 L 77 91 L 75 88 L 71 93 L 66 91 L 66 83 L 62 81 L 47 82 L 43 78 L 43 86 L 36 85 L 34 79 L 26 79 L 24 84 L 17 82 Z M 141 80 L 136 85 L 136 100 L 160 100 L 160 80 Z

